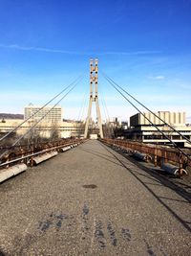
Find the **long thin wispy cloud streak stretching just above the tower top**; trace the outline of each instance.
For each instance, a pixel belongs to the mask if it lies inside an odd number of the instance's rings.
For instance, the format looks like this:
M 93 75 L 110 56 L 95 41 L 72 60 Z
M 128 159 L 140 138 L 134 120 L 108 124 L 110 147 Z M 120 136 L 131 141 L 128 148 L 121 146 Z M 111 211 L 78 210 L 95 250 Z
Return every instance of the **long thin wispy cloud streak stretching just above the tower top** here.
M 121 56 L 138 56 L 138 55 L 154 55 L 160 54 L 160 51 L 132 51 L 132 52 L 74 52 L 74 51 L 66 51 L 66 50 L 59 50 L 53 48 L 44 48 L 44 47 L 33 47 L 33 46 L 21 46 L 17 44 L 11 45 L 3 45 L 0 44 L 0 48 L 7 48 L 12 50 L 19 50 L 19 51 L 36 51 L 36 52 L 46 52 L 46 53 L 53 53 L 53 54 L 65 54 L 65 55 L 83 55 L 83 56 L 105 56 L 105 55 L 121 55 Z

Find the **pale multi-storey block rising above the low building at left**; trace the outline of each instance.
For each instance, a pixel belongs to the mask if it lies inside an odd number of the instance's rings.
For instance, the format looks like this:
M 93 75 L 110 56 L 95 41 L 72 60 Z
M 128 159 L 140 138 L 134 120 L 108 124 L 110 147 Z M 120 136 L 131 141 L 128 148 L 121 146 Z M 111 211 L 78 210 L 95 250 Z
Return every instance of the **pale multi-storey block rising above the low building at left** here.
M 31 121 L 39 121 L 43 119 L 43 123 L 60 123 L 62 122 L 62 107 L 61 106 L 45 106 L 41 109 L 41 106 L 28 105 L 25 106 L 25 120 L 31 118 Z M 52 109 L 53 108 L 53 109 Z M 44 118 L 43 118 L 44 117 Z

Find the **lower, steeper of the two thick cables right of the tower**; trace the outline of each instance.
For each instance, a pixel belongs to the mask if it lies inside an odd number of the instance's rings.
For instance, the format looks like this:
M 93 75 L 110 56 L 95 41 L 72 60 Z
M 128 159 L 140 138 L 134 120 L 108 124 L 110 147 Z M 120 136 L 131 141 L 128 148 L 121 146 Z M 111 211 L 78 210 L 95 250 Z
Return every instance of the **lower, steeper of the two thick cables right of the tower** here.
M 107 78 L 106 78 L 107 81 L 109 81 Z M 109 83 L 117 90 L 117 92 L 130 104 L 130 105 L 133 105 L 137 110 L 138 112 L 147 120 L 149 121 L 149 123 L 154 126 L 155 128 L 157 128 L 159 130 L 159 132 L 168 140 L 170 141 L 173 146 L 175 148 L 177 148 L 184 156 L 186 156 L 189 160 L 191 160 L 191 157 L 189 155 L 187 155 L 184 151 L 182 151 L 176 143 L 174 143 L 162 130 L 160 130 L 154 123 L 152 123 L 149 118 L 147 118 L 139 109 L 136 105 L 134 105 L 121 91 L 119 91 L 119 89 L 117 89 L 116 85 L 114 85 L 111 81 L 109 81 Z

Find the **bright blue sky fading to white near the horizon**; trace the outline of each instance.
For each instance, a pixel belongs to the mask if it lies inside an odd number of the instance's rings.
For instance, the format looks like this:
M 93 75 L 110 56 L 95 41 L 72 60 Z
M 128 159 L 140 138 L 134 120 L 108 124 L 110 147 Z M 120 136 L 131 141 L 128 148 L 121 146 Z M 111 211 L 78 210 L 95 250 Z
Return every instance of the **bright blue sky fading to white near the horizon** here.
M 0 0 L 0 35 L 0 112 L 43 105 L 82 75 L 61 104 L 77 118 L 93 57 L 143 104 L 191 123 L 190 0 Z M 103 119 L 103 101 L 111 117 L 137 112 L 100 74 L 99 92 Z

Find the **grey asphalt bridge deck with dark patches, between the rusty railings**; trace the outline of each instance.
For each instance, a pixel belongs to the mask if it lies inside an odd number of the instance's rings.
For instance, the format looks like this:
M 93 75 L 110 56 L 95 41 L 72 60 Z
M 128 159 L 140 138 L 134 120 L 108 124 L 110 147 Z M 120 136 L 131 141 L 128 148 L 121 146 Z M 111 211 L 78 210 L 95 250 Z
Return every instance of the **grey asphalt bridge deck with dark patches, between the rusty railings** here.
M 191 253 L 189 198 L 97 141 L 1 184 L 0 205 L 0 255 Z

